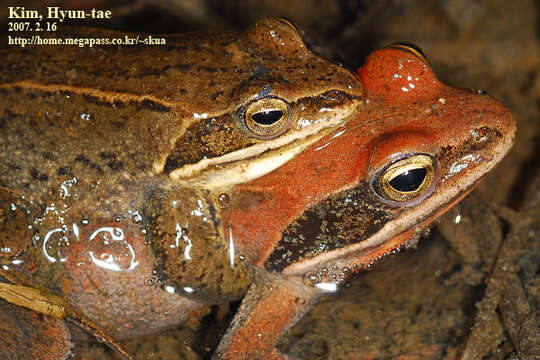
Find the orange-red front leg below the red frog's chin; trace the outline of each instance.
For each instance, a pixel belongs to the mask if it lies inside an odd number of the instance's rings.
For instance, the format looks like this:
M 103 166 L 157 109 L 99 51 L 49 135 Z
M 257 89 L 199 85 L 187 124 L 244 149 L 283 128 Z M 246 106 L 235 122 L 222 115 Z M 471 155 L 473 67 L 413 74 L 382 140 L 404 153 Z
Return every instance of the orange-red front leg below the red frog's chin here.
M 213 359 L 289 359 L 276 348 L 279 338 L 321 293 L 304 284 L 301 277 L 257 274 Z

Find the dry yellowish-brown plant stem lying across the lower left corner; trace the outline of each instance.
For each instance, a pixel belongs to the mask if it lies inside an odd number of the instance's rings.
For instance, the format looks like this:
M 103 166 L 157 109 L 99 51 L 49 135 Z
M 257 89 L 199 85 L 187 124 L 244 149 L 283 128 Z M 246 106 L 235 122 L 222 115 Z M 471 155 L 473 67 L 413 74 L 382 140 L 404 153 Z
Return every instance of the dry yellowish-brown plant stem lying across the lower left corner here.
M 15 284 L 0 282 L 0 298 L 8 303 L 25 307 L 44 315 L 66 320 L 92 334 L 99 342 L 118 352 L 125 360 L 134 360 L 113 338 L 103 331 L 97 324 L 74 309 L 62 297 L 43 289 L 30 286 L 16 285 L 19 281 L 14 279 L 12 273 L 0 269 L 0 276 Z M 21 275 L 22 276 L 22 275 Z

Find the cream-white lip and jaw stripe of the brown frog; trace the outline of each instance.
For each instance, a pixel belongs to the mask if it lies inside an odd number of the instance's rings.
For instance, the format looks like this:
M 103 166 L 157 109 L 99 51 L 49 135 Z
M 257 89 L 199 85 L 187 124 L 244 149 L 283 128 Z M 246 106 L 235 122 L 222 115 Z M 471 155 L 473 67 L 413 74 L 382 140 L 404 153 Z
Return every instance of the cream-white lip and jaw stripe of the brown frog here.
M 331 124 L 321 122 L 309 129 L 309 132 L 293 133 L 217 158 L 203 159 L 198 163 L 173 170 L 169 177 L 209 190 L 249 182 L 277 169 L 324 136 L 335 131 L 347 122 L 342 119 Z

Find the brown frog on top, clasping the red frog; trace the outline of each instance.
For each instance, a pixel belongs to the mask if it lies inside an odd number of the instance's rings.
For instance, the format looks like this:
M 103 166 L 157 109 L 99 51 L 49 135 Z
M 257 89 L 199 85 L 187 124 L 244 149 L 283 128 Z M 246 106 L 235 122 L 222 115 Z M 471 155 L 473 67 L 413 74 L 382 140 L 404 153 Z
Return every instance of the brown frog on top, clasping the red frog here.
M 125 36 L 77 30 L 100 34 Z M 231 260 L 227 192 L 363 105 L 356 76 L 284 19 L 168 42 L 2 52 L 2 276 L 19 286 L 4 292 L 47 315 L 69 304 L 110 344 L 241 297 L 253 270 Z

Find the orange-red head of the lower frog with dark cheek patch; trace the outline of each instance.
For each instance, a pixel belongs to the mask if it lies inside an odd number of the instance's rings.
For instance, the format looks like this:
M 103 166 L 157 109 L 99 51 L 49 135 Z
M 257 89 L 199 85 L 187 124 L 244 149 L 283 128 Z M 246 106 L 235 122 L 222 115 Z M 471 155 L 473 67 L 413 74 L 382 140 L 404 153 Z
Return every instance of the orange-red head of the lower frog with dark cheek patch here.
M 378 50 L 357 74 L 366 105 L 354 120 L 235 187 L 225 227 L 256 266 L 295 275 L 338 266 L 327 279 L 343 280 L 421 232 L 513 144 L 509 111 L 442 84 L 417 48 Z

